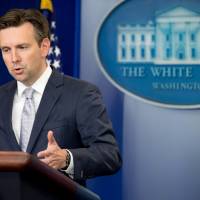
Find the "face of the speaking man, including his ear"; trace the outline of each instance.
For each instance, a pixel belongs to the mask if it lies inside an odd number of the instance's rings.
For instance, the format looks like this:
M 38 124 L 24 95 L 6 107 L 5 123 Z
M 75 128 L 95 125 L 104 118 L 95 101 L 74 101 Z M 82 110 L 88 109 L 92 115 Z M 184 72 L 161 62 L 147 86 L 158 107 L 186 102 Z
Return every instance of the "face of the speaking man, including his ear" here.
M 30 86 L 46 69 L 49 39 L 39 46 L 31 23 L 0 31 L 0 48 L 9 73 L 18 81 Z

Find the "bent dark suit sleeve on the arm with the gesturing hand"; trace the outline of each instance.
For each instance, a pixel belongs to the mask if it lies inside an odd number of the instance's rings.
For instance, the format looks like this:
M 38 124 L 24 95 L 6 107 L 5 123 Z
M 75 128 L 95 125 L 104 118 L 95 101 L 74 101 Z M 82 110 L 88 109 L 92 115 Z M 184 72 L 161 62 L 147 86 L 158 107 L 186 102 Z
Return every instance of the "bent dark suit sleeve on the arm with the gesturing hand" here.
M 121 157 L 102 96 L 93 85 L 87 85 L 80 93 L 76 123 L 84 147 L 70 149 L 74 158 L 74 179 L 115 173 L 121 166 Z

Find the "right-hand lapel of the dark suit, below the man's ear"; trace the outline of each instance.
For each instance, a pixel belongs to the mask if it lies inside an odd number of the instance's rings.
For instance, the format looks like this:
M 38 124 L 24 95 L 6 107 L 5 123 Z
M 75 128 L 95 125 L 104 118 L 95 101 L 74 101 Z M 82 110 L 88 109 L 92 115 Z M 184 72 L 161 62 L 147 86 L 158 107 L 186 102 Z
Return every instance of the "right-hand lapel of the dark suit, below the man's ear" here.
M 37 138 L 41 133 L 42 127 L 44 126 L 52 108 L 54 107 L 61 95 L 62 85 L 63 75 L 56 70 L 53 70 L 35 116 L 35 121 L 27 147 L 27 152 L 30 153 L 34 148 Z

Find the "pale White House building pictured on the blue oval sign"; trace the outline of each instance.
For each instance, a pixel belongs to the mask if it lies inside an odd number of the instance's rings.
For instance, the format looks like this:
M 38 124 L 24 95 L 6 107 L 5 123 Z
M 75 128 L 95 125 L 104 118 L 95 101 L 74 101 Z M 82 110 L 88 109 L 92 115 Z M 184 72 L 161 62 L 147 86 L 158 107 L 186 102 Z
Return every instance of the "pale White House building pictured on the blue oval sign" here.
M 184 7 L 146 25 L 119 25 L 118 63 L 200 64 L 200 14 Z

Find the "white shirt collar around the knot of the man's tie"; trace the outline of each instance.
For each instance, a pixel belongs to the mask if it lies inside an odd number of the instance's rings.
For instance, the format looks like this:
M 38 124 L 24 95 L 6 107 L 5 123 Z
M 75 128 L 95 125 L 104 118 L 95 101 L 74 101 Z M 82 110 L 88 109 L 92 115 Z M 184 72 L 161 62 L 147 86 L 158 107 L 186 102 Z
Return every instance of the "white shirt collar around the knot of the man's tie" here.
M 43 74 L 40 76 L 40 78 L 33 83 L 33 85 L 31 85 L 31 87 L 38 93 L 40 93 L 41 95 L 44 92 L 44 89 L 46 87 L 46 84 L 49 80 L 49 77 L 51 76 L 52 73 L 52 69 L 50 66 L 48 66 L 46 68 L 46 70 L 43 72 Z M 17 81 L 17 95 L 19 97 L 22 96 L 24 90 L 27 88 L 26 85 L 24 85 L 23 83 L 21 83 L 20 81 Z

